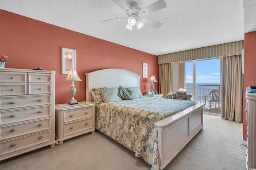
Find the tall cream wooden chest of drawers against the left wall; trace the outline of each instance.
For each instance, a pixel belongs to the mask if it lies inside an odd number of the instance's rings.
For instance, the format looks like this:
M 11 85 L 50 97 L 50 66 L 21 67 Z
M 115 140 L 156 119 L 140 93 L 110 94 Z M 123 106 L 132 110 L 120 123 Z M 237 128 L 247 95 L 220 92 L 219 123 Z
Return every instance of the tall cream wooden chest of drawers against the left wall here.
M 55 145 L 54 71 L 0 68 L 0 160 Z

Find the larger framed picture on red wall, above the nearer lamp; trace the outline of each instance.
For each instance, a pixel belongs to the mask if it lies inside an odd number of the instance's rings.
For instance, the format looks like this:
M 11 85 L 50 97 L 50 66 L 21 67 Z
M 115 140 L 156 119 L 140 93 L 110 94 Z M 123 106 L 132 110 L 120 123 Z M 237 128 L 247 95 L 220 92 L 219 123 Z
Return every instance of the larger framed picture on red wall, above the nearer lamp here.
M 76 50 L 61 47 L 61 74 L 68 74 L 68 70 L 76 70 Z

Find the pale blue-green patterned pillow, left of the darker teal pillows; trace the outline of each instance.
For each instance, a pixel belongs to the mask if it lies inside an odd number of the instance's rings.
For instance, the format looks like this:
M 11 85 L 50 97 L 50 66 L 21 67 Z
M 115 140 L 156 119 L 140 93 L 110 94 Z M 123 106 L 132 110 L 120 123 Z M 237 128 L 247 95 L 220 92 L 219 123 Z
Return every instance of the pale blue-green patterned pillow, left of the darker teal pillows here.
M 117 102 L 121 101 L 122 98 L 120 98 L 118 94 L 118 88 L 104 88 L 100 90 L 100 94 L 102 96 L 102 99 L 105 103 L 107 102 Z

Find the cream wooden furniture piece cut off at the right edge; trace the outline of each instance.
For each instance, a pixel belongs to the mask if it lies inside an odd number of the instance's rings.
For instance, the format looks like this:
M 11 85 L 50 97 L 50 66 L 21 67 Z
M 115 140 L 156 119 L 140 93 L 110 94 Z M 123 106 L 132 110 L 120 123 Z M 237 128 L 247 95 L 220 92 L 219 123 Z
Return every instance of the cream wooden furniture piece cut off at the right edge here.
M 246 93 L 247 150 L 246 170 L 256 169 L 256 93 Z

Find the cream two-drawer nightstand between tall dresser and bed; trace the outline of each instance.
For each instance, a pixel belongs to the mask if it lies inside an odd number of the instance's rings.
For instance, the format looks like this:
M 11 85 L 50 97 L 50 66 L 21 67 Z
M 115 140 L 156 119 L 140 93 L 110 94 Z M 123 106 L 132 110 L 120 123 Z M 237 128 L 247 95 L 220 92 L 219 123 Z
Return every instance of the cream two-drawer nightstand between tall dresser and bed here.
M 63 141 L 92 132 L 94 134 L 95 104 L 78 102 L 75 105 L 55 105 L 55 135 L 59 144 Z

